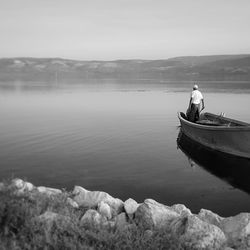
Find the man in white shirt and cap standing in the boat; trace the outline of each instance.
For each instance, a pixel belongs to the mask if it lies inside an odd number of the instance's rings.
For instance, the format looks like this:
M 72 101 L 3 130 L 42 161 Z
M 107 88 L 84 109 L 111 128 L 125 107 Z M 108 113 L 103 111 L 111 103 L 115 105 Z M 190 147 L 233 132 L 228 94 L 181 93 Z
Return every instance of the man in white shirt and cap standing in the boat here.
M 201 107 L 202 106 L 202 107 Z M 187 118 L 190 122 L 196 122 L 199 120 L 200 112 L 205 108 L 204 99 L 201 92 L 198 90 L 198 85 L 193 86 L 191 97 L 189 101 Z

